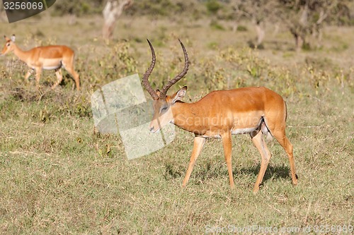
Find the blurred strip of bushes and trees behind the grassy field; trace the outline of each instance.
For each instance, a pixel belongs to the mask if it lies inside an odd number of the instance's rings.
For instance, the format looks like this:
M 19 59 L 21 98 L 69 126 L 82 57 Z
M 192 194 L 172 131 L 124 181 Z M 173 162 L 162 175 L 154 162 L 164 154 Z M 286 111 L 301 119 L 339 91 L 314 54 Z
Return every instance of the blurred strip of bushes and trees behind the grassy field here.
M 124 0 L 109 0 L 120 2 Z M 105 0 L 62 0 L 55 4 L 57 16 L 71 14 L 87 16 L 101 14 Z M 351 0 L 135 0 L 125 8 L 125 14 L 150 18 L 209 18 L 220 30 L 218 20 L 232 23 L 232 30 L 246 30 L 240 22 L 249 21 L 257 33 L 252 47 L 263 47 L 265 25 L 284 26 L 295 38 L 296 49 L 309 49 L 321 42 L 324 25 L 354 25 L 354 3 Z M 311 37 L 311 39 L 309 39 Z

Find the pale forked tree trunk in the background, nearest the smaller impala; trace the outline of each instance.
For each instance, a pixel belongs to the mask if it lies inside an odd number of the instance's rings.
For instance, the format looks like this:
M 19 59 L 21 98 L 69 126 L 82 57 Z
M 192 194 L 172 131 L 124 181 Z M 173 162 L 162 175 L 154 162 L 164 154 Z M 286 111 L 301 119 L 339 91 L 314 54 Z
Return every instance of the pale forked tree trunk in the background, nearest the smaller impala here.
M 102 35 L 105 40 L 110 40 L 113 37 L 113 30 L 117 19 L 122 15 L 125 8 L 132 4 L 132 0 L 108 0 L 103 8 L 103 29 Z

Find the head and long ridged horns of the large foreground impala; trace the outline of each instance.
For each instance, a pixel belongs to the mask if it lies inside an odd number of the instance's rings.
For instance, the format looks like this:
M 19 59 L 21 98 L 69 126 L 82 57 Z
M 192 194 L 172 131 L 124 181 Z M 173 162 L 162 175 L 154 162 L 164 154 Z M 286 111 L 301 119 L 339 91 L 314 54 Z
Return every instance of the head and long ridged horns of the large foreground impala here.
M 149 42 L 149 40 L 147 40 L 147 42 Z M 181 47 L 184 53 L 185 64 L 183 71 L 172 80 L 169 80 L 169 83 L 164 85 L 161 91 L 159 89 L 152 89 L 152 86 L 149 83 L 149 76 L 152 73 L 156 62 L 154 47 L 152 47 L 152 44 L 149 42 L 150 49 L 152 49 L 152 64 L 149 66 L 147 71 L 144 73 L 144 76 L 142 77 L 142 85 L 144 85 L 144 88 L 147 89 L 147 92 L 149 92 L 149 94 L 152 96 L 152 99 L 154 100 L 154 116 L 152 117 L 152 122 L 149 126 L 150 131 L 153 133 L 159 131 L 160 128 L 164 127 L 167 123 L 173 123 L 172 107 L 176 102 L 180 101 L 184 97 L 187 90 L 187 87 L 184 86 L 175 94 L 166 95 L 167 90 L 169 90 L 173 84 L 177 83 L 178 80 L 183 78 L 188 71 L 188 54 L 183 43 L 180 40 L 179 42 L 181 43 Z

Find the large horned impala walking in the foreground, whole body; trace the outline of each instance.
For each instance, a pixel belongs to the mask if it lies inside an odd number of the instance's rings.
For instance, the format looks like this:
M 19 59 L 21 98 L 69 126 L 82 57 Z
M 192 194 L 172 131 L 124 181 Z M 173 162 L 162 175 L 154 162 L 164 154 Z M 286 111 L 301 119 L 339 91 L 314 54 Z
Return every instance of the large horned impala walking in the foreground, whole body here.
M 147 40 L 149 42 L 149 40 Z M 297 184 L 295 174 L 295 161 L 292 155 L 292 144 L 285 136 L 285 120 L 287 118 L 286 104 L 282 97 L 267 88 L 239 88 L 234 90 L 217 90 L 210 92 L 195 103 L 184 103 L 181 99 L 185 96 L 187 87 L 183 87 L 173 95 L 166 95 L 178 80 L 183 78 L 188 71 L 188 54 L 183 46 L 185 66 L 181 73 L 169 81 L 162 90 L 153 90 L 149 84 L 149 76 L 154 69 L 156 57 L 152 50 L 152 64 L 144 73 L 142 84 L 154 100 L 154 116 L 150 123 L 153 133 L 167 123 L 183 128 L 185 131 L 195 133 L 194 147 L 188 170 L 183 179 L 185 187 L 195 165 L 195 160 L 202 151 L 206 138 L 222 138 L 224 156 L 229 172 L 231 188 L 234 188 L 232 176 L 232 135 L 249 133 L 253 144 L 261 153 L 262 162 L 253 192 L 259 190 L 265 169 L 271 154 L 265 145 L 263 134 L 273 135 L 287 152 L 290 160 L 292 183 Z

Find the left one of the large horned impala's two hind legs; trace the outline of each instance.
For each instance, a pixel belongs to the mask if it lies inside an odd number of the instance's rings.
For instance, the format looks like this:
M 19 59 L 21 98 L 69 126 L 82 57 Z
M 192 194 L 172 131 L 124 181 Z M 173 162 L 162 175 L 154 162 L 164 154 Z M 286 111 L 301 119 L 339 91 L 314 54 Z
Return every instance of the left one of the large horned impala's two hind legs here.
M 259 190 L 260 184 L 262 183 L 263 176 L 265 174 L 265 170 L 268 167 L 268 163 L 269 163 L 270 157 L 272 157 L 272 155 L 270 154 L 268 147 L 265 144 L 262 131 L 258 131 L 258 133 L 254 133 L 254 132 L 251 133 L 251 138 L 252 138 L 253 144 L 257 147 L 257 149 L 262 157 L 261 169 L 259 169 L 256 183 L 254 184 L 254 188 L 253 188 L 253 192 L 256 193 Z

